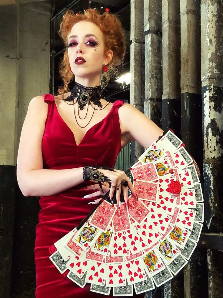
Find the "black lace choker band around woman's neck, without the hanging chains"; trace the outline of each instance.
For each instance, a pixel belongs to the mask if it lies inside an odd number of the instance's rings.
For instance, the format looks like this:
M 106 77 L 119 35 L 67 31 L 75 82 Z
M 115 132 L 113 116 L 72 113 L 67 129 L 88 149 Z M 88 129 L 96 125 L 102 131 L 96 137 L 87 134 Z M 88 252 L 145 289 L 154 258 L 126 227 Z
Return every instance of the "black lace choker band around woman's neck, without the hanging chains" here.
M 78 108 L 83 110 L 86 104 L 91 104 L 91 102 L 98 107 L 102 108 L 102 103 L 100 101 L 102 94 L 102 87 L 85 87 L 81 84 L 75 83 L 71 95 L 69 95 L 65 101 L 74 101 L 78 102 Z

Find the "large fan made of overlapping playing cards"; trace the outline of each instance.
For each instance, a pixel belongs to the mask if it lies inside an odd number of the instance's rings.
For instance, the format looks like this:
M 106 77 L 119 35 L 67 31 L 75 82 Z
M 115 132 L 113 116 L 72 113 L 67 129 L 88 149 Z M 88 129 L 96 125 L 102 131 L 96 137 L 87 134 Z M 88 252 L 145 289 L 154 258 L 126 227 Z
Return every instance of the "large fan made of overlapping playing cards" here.
M 57 269 L 80 287 L 113 296 L 140 294 L 173 278 L 201 234 L 204 204 L 193 160 L 168 131 L 131 167 L 137 198 L 103 200 L 90 218 L 55 243 Z

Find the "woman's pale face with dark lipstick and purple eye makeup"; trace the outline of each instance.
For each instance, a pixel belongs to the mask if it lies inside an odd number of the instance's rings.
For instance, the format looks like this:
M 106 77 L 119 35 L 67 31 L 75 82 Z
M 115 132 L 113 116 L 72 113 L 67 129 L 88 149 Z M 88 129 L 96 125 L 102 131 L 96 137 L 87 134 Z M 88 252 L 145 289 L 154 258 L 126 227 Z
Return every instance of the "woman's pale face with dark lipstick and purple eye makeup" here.
M 76 23 L 68 35 L 68 46 L 70 67 L 75 80 L 81 83 L 81 78 L 91 80 L 94 77 L 100 82 L 102 67 L 110 61 L 105 59 L 103 33 L 98 26 L 87 21 Z

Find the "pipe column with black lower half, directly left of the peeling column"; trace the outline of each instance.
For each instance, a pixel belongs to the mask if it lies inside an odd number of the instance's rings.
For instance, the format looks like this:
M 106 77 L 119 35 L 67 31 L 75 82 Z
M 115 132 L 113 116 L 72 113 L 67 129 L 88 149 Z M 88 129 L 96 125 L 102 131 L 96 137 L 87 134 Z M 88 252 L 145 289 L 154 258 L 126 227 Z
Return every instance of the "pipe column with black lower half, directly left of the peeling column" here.
M 181 139 L 202 168 L 200 0 L 181 0 L 180 15 Z

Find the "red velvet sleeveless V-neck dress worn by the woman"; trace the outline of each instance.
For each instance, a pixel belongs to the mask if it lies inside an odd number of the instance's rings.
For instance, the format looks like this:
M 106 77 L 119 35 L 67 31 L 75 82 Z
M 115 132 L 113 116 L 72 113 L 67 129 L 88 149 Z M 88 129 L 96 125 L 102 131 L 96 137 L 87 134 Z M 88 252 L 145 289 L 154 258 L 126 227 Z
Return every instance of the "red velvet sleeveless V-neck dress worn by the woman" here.
M 44 94 L 44 101 L 48 103 L 42 139 L 44 169 L 69 169 L 85 165 L 114 168 L 121 150 L 118 108 L 122 106 L 123 101 L 116 101 L 108 115 L 86 132 L 78 146 L 73 132 L 58 113 L 53 95 Z M 49 247 L 76 227 L 92 210 L 93 205 L 88 205 L 92 199 L 83 199 L 83 196 L 92 191 L 81 190 L 89 184 L 84 182 L 59 194 L 41 197 L 39 200 L 41 211 L 36 227 L 34 250 L 36 298 L 108 297 L 89 292 L 89 284 L 84 289 L 80 288 L 66 278 L 65 274 L 60 274 L 49 259 L 53 252 L 49 252 Z

